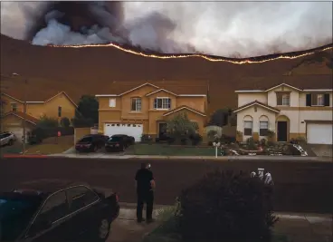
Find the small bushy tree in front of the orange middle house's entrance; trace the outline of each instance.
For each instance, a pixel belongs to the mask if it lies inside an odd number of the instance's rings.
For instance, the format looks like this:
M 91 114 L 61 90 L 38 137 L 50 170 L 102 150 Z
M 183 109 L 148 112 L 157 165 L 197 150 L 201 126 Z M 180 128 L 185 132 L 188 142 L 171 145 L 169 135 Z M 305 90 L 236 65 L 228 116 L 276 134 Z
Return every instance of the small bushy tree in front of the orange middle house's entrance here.
M 190 121 L 186 112 L 180 112 L 173 119 L 166 121 L 166 132 L 176 141 L 189 138 L 197 130 L 197 123 Z

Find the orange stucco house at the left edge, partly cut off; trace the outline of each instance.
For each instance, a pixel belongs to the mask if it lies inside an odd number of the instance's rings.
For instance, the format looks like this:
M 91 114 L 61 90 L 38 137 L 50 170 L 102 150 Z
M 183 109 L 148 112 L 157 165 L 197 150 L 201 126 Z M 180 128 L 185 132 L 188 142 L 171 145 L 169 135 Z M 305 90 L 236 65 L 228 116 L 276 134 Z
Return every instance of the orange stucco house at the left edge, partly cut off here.
M 12 131 L 17 137 L 23 135 L 23 121 L 26 131 L 31 131 L 36 122 L 43 116 L 61 119 L 71 119 L 75 115 L 77 105 L 71 100 L 66 92 L 59 92 L 52 97 L 43 95 L 33 96 L 27 92 L 27 96 L 15 93 L 1 93 L 2 116 L 1 130 Z M 31 94 L 31 95 L 29 95 Z M 26 112 L 24 113 L 24 98 Z

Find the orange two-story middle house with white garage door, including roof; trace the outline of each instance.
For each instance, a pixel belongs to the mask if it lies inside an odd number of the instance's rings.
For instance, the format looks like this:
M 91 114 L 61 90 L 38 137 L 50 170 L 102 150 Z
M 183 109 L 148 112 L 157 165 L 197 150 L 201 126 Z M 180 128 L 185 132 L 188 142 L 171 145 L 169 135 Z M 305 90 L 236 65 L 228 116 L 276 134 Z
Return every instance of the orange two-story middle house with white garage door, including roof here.
M 113 94 L 97 94 L 99 131 L 106 135 L 127 134 L 136 141 L 143 134 L 152 138 L 166 132 L 166 120 L 179 111 L 197 123 L 203 134 L 206 119 L 206 87 L 143 83 L 114 86 Z

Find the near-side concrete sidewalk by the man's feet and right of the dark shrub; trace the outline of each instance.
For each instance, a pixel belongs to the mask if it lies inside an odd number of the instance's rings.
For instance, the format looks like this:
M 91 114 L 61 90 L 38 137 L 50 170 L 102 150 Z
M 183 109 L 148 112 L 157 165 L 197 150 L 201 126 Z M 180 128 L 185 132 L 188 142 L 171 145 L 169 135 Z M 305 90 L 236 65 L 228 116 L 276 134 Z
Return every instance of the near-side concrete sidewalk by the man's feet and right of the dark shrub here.
M 136 223 L 136 204 L 121 203 L 121 210 L 114 226 L 110 241 L 139 242 L 148 233 L 161 225 L 165 220 L 163 210 L 172 209 L 171 206 L 156 205 L 153 217 L 157 222 L 152 225 Z M 276 213 L 279 221 L 274 227 L 278 235 L 288 237 L 288 242 L 331 242 L 332 215 Z

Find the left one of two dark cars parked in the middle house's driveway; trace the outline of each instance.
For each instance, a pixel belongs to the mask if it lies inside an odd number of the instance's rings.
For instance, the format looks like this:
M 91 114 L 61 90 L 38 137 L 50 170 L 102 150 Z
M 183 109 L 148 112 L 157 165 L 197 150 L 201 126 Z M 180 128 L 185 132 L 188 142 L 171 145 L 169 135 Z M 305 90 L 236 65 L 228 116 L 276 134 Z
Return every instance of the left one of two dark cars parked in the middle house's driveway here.
M 109 136 L 102 134 L 90 134 L 83 136 L 81 140 L 79 140 L 75 144 L 75 150 L 79 152 L 88 151 L 88 152 L 96 152 L 100 148 L 104 147 L 104 144 L 109 140 Z

